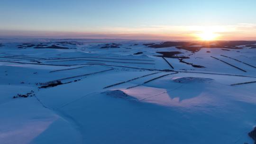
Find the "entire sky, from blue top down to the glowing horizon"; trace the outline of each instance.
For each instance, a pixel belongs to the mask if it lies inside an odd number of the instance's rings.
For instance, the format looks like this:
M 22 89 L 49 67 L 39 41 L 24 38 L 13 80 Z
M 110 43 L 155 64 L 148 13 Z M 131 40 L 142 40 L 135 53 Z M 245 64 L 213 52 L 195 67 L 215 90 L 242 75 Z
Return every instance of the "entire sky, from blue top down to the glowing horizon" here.
M 256 40 L 256 0 L 0 0 L 1 38 L 202 36 Z

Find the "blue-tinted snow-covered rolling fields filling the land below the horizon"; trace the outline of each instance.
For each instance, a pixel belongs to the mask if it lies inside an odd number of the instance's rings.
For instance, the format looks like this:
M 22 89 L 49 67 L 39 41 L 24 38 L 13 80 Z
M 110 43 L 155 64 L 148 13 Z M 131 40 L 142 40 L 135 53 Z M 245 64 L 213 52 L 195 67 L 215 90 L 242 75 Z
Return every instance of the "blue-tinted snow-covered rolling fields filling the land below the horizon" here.
M 254 143 L 256 49 L 148 43 L 1 39 L 0 144 Z

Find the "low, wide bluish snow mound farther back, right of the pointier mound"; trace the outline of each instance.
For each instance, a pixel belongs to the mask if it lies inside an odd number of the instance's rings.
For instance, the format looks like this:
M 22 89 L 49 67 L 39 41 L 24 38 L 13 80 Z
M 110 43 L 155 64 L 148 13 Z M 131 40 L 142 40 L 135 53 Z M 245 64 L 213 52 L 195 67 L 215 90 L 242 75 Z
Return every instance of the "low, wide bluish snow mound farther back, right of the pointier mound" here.
M 213 79 L 199 78 L 199 77 L 182 77 L 182 78 L 174 78 L 173 81 L 179 82 L 179 83 L 191 83 L 191 82 L 210 83 L 213 81 Z

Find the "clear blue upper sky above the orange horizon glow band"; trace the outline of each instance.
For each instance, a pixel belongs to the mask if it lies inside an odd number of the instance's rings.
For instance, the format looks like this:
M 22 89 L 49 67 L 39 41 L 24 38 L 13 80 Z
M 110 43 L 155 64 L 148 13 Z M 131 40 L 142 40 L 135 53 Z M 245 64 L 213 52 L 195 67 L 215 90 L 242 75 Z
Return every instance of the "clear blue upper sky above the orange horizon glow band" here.
M 1 0 L 0 31 L 256 24 L 256 0 Z M 122 28 L 120 28 L 122 27 Z M 136 33 L 134 30 L 133 33 Z M 145 32 L 146 33 L 146 32 Z

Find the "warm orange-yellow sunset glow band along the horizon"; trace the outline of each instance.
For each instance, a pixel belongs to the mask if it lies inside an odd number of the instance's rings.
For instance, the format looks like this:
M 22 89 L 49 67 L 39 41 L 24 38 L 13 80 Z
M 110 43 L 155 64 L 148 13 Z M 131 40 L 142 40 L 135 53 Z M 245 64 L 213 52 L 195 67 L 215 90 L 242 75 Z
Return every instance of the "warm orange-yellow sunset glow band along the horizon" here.
M 227 26 L 96 27 L 97 29 L 11 31 L 0 29 L 0 38 L 120 38 L 166 41 L 256 40 L 256 24 Z

